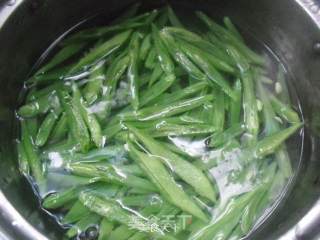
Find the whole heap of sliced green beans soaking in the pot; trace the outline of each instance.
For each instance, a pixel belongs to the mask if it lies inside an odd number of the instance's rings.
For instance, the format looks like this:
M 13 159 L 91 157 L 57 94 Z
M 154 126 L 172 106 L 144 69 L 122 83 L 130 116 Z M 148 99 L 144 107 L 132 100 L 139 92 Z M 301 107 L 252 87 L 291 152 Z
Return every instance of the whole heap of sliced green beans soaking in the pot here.
M 191 31 L 169 6 L 137 11 L 67 36 L 26 81 L 20 171 L 66 239 L 240 239 L 293 175 L 285 142 L 300 117 L 228 17 L 196 12 Z M 210 172 L 229 155 L 230 182 L 251 188 L 222 201 Z M 50 188 L 52 173 L 68 187 Z

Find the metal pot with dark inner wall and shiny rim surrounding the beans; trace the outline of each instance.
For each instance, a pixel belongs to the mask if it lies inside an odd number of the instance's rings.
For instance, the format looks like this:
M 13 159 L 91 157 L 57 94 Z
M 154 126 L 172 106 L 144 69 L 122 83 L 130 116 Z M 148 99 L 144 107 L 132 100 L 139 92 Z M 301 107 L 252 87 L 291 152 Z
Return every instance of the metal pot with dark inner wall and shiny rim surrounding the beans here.
M 40 210 L 16 163 L 15 113 L 23 81 L 48 46 L 97 12 L 112 19 L 134 0 L 0 0 L 0 239 L 62 239 Z M 152 2 L 152 3 L 151 3 Z M 165 1 L 147 1 L 147 7 Z M 306 131 L 302 161 L 287 196 L 248 239 L 319 239 L 320 3 L 316 0 L 188 0 L 173 5 L 228 15 L 286 64 Z M 41 232 L 41 233 L 40 233 Z

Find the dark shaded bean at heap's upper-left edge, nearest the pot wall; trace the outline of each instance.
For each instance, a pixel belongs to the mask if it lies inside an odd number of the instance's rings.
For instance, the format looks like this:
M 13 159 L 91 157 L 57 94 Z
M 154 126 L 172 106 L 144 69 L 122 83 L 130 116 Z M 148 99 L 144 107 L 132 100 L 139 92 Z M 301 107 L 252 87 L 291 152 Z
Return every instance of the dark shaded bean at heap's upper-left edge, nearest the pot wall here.
M 43 74 L 48 70 L 68 60 L 70 57 L 79 53 L 86 46 L 86 43 L 74 43 L 63 47 L 46 65 L 40 68 L 36 75 Z

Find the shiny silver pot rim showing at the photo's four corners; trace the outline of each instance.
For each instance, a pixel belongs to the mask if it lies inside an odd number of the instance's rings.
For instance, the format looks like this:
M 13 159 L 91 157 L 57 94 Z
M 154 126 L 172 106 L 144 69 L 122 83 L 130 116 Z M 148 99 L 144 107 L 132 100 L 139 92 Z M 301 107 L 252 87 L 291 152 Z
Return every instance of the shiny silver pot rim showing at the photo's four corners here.
M 25 0 L 4 0 L 0 3 L 0 29 Z M 312 19 L 313 23 L 320 29 L 320 1 L 317 0 L 294 0 L 304 12 Z M 299 239 L 300 234 L 312 232 L 320 222 L 320 199 L 309 209 L 300 221 L 289 229 L 279 240 Z M 6 232 L 10 226 L 13 231 Z M 5 231 L 5 236 L 1 235 Z M 13 233 L 11 233 L 13 232 Z M 22 215 L 8 201 L 0 188 L 0 239 L 14 240 L 15 237 L 23 237 L 25 240 L 49 240 L 35 227 L 22 217 Z

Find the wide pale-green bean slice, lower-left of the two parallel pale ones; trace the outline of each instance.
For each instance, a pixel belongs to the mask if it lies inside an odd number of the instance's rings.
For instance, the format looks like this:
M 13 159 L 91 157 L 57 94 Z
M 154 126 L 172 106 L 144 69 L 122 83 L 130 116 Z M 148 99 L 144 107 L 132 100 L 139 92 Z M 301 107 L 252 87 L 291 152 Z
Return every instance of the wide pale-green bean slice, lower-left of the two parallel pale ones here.
M 174 182 L 161 161 L 155 156 L 148 156 L 138 151 L 133 144 L 129 143 L 129 154 L 137 161 L 150 179 L 158 187 L 163 196 L 172 204 L 191 213 L 192 215 L 207 221 L 206 215 L 188 197 L 188 195 Z

